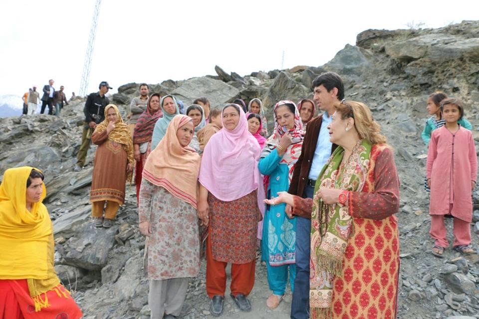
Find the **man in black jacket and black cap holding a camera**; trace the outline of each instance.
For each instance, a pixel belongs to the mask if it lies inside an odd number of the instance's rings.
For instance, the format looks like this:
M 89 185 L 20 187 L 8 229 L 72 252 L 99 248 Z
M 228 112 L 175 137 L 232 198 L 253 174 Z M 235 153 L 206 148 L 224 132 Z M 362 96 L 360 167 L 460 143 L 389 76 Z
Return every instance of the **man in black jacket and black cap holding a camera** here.
M 85 113 L 85 125 L 83 126 L 83 134 L 81 136 L 80 150 L 78 151 L 77 161 L 75 165 L 75 172 L 80 171 L 85 166 L 86 155 L 88 148 L 90 148 L 91 134 L 97 124 L 100 124 L 105 119 L 105 106 L 110 104 L 110 101 L 105 96 L 112 87 L 108 82 L 103 81 L 99 85 L 99 91 L 88 95 L 83 113 Z

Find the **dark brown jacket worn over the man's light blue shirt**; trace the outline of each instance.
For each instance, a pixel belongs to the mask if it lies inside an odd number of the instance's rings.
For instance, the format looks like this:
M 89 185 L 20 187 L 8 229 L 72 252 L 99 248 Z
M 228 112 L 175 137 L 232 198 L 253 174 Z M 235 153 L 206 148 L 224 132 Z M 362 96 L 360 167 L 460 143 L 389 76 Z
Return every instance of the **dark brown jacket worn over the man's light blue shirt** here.
M 299 155 L 298 161 L 294 164 L 293 177 L 289 184 L 288 193 L 304 197 L 304 188 L 308 182 L 309 170 L 313 162 L 314 151 L 316 150 L 316 144 L 318 142 L 319 130 L 321 129 L 321 123 L 323 116 L 319 115 L 314 120 L 308 123 L 308 129 L 304 136 L 303 147 L 301 148 L 301 155 Z M 331 153 L 336 149 L 337 145 L 333 144 Z M 301 216 L 305 218 L 311 218 L 311 212 L 309 216 Z

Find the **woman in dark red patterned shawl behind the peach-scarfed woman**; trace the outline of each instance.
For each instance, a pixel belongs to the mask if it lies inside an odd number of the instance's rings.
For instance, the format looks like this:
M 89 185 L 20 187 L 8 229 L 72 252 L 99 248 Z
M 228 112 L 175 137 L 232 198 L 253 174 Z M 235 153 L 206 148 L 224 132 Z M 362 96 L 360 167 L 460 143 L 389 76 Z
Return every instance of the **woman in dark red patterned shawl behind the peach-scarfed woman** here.
M 133 133 L 133 149 L 136 161 L 135 184 L 137 200 L 140 194 L 143 166 L 145 165 L 146 158 L 151 152 L 153 129 L 155 128 L 156 121 L 163 117 L 163 111 L 160 108 L 160 99 L 161 96 L 158 93 L 154 93 L 150 96 L 146 110 L 136 121 L 135 131 Z

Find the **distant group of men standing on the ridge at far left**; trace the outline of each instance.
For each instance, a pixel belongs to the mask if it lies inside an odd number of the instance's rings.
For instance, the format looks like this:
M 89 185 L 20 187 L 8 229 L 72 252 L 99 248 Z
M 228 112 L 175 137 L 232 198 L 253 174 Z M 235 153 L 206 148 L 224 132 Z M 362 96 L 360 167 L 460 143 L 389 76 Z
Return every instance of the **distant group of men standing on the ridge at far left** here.
M 41 110 L 40 114 L 45 112 L 46 107 L 48 106 L 48 115 L 60 115 L 61 109 L 64 105 L 68 105 L 68 101 L 65 96 L 63 85 L 60 86 L 59 90 L 55 90 L 53 84 L 55 81 L 48 80 L 48 84 L 43 86 L 43 95 L 40 98 L 40 93 L 36 90 L 36 85 L 33 85 L 28 89 L 22 96 L 23 109 L 22 115 L 33 115 L 36 113 L 38 104 L 41 101 Z M 72 97 L 75 96 L 75 93 L 72 92 Z

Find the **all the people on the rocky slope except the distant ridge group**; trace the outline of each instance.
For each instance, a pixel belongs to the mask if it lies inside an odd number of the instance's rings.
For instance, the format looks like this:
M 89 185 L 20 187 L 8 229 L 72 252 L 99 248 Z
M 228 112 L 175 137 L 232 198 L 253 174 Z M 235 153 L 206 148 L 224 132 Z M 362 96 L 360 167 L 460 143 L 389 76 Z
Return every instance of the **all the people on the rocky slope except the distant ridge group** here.
M 369 107 L 345 98 L 338 74 L 319 75 L 312 88 L 312 100 L 274 105 L 270 132 L 258 98 L 213 108 L 200 97 L 185 108 L 173 95 L 150 95 L 143 83 L 123 121 L 105 96 L 108 82 L 88 96 L 75 170 L 85 165 L 93 141 L 90 201 L 99 228 L 112 226 L 126 182 L 135 182 L 152 319 L 180 316 L 203 255 L 211 314 L 223 313 L 228 264 L 231 298 L 250 311 L 258 248 L 269 309 L 278 307 L 289 283 L 292 319 L 396 318 L 400 200 L 393 149 Z M 432 116 L 422 137 L 429 144 L 432 252 L 442 257 L 449 246 L 444 217 L 450 216 L 453 249 L 469 254 L 477 178 L 471 124 L 461 101 L 442 92 L 429 97 L 427 109 Z M 6 256 L 0 305 L 16 305 L 0 306 L 0 319 L 23 318 L 30 308 L 81 316 L 51 271 L 42 180 L 38 169 L 22 167 L 5 171 L 0 185 L 0 206 L 8 212 L 0 215 Z M 23 237 L 30 228 L 35 232 Z M 45 254 L 28 246 L 33 241 Z

